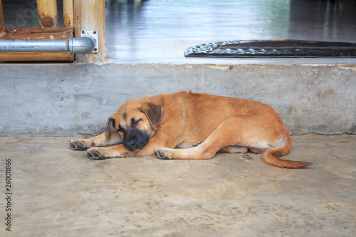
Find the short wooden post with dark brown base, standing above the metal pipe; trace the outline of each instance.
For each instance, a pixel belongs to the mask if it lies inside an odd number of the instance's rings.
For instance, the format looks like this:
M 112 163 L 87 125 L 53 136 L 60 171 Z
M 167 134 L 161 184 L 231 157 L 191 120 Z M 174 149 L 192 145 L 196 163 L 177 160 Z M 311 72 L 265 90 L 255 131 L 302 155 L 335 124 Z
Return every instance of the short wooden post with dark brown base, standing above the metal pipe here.
M 56 0 L 37 0 L 37 11 L 41 27 L 58 27 Z

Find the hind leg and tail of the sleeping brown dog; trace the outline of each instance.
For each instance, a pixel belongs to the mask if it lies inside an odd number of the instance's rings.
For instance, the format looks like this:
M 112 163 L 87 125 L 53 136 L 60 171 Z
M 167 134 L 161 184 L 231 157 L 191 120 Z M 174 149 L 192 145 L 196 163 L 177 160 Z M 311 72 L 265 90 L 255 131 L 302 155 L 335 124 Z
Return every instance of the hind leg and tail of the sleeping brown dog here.
M 257 121 L 258 122 L 258 121 Z M 219 149 L 226 146 L 253 147 L 253 152 L 263 153 L 267 164 L 281 168 L 303 168 L 311 163 L 279 159 L 290 152 L 292 146 L 288 130 L 282 126 L 249 120 L 249 117 L 231 116 L 216 128 L 214 132 L 197 147 L 187 149 L 169 149 L 158 147 L 155 154 L 160 159 L 211 159 Z M 265 126 L 265 127 L 263 127 Z M 276 129 L 278 127 L 278 129 Z

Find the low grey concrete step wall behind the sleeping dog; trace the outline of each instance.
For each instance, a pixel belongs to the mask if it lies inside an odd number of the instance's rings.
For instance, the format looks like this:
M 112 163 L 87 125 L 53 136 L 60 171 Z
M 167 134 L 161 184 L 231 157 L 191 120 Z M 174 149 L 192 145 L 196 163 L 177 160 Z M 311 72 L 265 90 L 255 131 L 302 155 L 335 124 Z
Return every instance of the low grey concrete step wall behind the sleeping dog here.
M 85 136 L 134 98 L 179 90 L 271 105 L 292 134 L 356 133 L 356 65 L 2 64 L 0 136 Z

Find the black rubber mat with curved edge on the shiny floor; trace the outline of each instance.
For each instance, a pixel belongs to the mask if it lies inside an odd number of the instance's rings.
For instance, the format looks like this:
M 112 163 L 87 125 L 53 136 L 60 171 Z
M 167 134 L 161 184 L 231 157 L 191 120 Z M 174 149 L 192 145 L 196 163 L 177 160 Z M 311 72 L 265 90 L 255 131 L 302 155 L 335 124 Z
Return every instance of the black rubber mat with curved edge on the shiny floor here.
M 187 48 L 186 57 L 356 58 L 356 43 L 325 41 L 223 41 Z

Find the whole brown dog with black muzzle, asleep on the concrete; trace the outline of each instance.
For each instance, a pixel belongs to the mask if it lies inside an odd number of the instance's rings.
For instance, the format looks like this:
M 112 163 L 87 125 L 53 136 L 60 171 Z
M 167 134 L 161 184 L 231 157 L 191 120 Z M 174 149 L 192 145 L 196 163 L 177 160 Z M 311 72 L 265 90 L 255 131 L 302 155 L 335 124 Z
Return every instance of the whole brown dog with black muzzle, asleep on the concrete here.
M 115 132 L 110 132 L 110 124 Z M 112 147 L 108 145 L 117 144 Z M 311 163 L 282 157 L 292 142 L 276 111 L 252 100 L 192 92 L 156 95 L 125 102 L 107 123 L 107 131 L 69 141 L 87 149 L 91 159 L 152 155 L 160 159 L 211 159 L 216 152 L 263 153 L 276 167 Z

